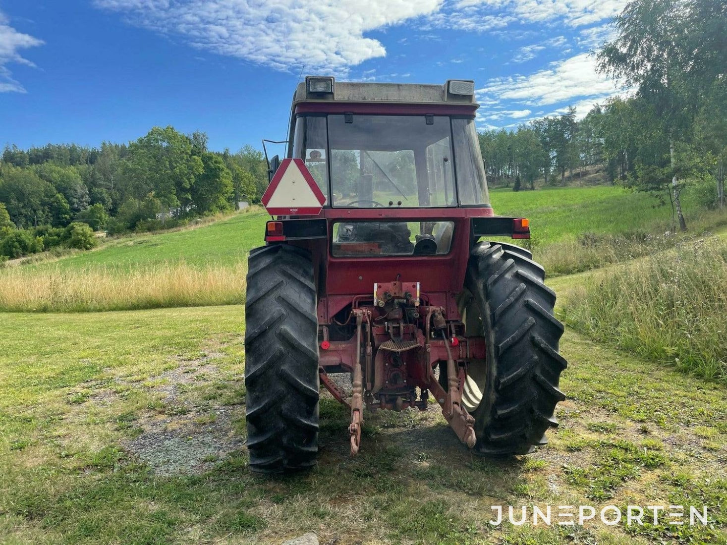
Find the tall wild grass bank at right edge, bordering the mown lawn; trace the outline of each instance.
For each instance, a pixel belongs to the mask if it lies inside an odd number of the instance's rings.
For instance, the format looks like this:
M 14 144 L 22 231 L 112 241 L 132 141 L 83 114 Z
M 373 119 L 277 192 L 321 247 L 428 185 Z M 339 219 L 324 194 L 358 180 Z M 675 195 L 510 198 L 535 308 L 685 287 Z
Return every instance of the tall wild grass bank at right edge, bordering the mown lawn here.
M 716 238 L 594 277 L 566 320 L 595 339 L 727 382 L 727 243 Z

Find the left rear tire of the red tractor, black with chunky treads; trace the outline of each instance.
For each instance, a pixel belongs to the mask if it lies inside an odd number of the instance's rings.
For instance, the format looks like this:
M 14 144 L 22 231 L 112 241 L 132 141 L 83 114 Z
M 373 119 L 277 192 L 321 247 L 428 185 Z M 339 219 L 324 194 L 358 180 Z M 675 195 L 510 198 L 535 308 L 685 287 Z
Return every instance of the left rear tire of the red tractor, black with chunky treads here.
M 292 472 L 318 453 L 318 317 L 310 252 L 250 252 L 245 303 L 245 405 L 250 469 Z

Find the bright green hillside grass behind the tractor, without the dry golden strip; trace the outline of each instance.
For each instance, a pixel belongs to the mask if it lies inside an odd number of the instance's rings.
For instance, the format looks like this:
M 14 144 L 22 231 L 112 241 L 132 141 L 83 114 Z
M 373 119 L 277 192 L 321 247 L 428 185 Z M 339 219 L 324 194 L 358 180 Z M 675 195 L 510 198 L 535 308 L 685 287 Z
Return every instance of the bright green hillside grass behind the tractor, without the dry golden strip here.
M 491 201 L 497 214 L 531 219 L 536 247 L 574 239 L 582 233 L 664 233 L 670 222 L 666 208 L 653 208 L 653 198 L 614 186 L 563 187 L 518 193 L 495 190 L 491 193 Z M 684 198 L 684 209 L 688 222 L 696 221 L 702 227 L 700 219 L 705 214 L 696 209 L 688 194 Z M 52 265 L 69 270 L 103 266 L 124 271 L 176 262 L 195 267 L 233 265 L 245 261 L 247 252 L 260 246 L 266 219 L 269 216 L 265 211 L 254 208 L 196 229 L 119 238 L 94 251 L 32 266 L 40 270 Z M 727 223 L 727 214 L 721 222 Z

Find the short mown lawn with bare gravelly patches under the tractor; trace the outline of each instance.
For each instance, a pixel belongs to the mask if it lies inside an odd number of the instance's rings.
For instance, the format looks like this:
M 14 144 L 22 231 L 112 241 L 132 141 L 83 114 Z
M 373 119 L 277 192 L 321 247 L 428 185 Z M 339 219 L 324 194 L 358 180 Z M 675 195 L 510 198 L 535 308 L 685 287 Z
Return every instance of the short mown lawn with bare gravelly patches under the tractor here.
M 247 467 L 239 306 L 0 314 L 0 542 L 725 543 L 726 388 L 566 331 L 561 426 L 486 460 L 434 408 L 321 402 L 312 472 Z M 492 505 L 685 504 L 712 524 L 492 528 Z

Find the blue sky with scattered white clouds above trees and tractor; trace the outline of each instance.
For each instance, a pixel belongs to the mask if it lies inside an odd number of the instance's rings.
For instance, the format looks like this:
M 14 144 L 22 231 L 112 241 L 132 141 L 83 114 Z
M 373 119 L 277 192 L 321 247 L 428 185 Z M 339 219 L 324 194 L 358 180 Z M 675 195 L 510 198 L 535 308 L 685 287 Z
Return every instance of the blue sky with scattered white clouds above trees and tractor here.
M 624 0 L 0 0 L 0 146 L 283 140 L 305 74 L 474 79 L 480 129 L 618 89 L 590 52 Z

